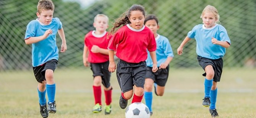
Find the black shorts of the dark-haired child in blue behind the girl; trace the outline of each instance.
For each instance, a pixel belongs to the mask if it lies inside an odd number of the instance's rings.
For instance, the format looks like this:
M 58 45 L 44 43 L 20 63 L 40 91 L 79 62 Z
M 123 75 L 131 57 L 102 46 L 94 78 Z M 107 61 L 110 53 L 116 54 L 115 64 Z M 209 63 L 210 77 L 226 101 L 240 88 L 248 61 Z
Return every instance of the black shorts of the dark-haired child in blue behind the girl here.
M 151 78 L 159 86 L 165 86 L 168 75 L 169 65 L 165 69 L 158 69 L 155 73 L 152 71 L 152 67 L 147 67 L 146 78 Z

